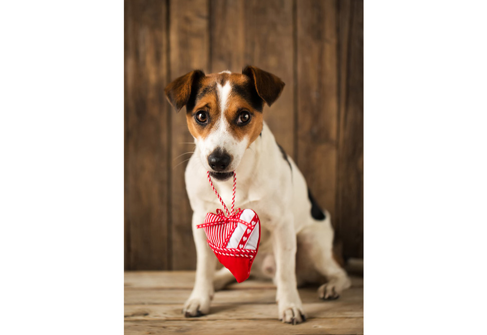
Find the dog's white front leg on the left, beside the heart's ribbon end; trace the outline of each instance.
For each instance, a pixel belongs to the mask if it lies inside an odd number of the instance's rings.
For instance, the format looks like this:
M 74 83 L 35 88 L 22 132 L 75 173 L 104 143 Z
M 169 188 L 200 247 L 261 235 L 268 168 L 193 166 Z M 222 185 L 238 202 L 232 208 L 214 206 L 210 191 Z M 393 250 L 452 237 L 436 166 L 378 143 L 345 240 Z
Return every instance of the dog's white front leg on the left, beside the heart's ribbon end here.
M 216 257 L 207 246 L 203 229 L 197 229 L 197 224 L 205 221 L 205 214 L 193 213 L 193 238 L 196 245 L 196 277 L 193 292 L 187 299 L 183 313 L 186 317 L 208 314 L 210 301 L 213 298 L 213 275 L 215 273 Z

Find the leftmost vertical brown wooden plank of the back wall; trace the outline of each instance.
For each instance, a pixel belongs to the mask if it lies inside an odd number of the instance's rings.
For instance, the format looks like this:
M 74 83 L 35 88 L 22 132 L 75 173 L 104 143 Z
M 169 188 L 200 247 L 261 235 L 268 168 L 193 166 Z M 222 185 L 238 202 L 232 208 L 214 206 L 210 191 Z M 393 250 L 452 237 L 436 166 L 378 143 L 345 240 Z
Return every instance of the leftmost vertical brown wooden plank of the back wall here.
M 125 1 L 126 253 L 131 269 L 167 269 L 166 3 Z

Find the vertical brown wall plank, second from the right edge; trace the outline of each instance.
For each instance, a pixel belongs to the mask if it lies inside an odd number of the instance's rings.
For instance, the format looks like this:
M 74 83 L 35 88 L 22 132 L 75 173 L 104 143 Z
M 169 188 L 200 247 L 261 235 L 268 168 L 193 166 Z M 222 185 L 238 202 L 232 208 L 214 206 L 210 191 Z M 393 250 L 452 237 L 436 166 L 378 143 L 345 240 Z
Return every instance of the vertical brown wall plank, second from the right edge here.
M 337 1 L 297 1 L 297 36 L 297 163 L 318 204 L 330 211 L 334 222 L 338 122 Z

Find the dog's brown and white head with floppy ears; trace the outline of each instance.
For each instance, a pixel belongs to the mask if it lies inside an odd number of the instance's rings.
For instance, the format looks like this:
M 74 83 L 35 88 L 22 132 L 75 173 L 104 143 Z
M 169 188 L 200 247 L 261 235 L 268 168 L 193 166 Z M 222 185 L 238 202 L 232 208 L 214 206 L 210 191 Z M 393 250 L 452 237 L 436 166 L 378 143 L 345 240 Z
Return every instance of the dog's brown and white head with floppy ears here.
M 264 103 L 270 106 L 283 88 L 278 77 L 245 66 L 242 74 L 191 71 L 165 91 L 177 111 L 186 106 L 187 126 L 203 165 L 212 177 L 226 180 L 262 132 Z

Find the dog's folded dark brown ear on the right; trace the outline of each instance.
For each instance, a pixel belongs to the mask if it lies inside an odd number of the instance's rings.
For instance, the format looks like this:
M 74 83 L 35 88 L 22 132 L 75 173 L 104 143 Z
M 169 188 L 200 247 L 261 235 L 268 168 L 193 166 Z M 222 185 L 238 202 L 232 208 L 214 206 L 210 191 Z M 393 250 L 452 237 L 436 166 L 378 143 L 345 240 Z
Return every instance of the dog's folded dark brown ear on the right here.
M 245 66 L 242 74 L 254 81 L 257 94 L 268 106 L 279 98 L 285 85 L 278 77 L 254 66 Z

